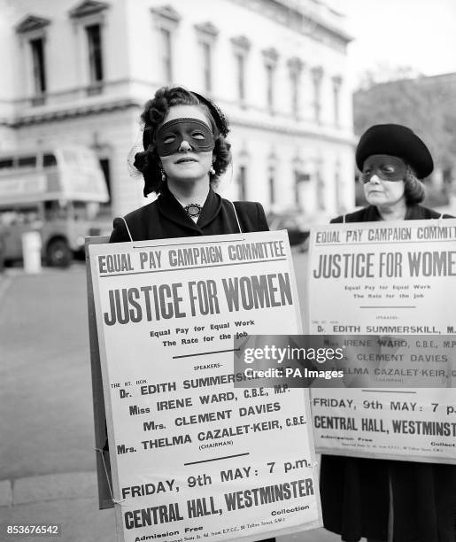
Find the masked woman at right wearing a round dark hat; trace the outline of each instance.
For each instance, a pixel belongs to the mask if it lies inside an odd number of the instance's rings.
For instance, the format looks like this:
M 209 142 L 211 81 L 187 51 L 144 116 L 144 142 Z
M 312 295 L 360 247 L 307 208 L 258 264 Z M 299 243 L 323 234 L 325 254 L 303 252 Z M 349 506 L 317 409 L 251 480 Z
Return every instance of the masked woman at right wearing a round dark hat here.
M 412 130 L 376 125 L 359 139 L 356 164 L 368 206 L 332 222 L 437 219 L 419 205 L 433 170 Z M 442 218 L 452 218 L 444 215 Z M 321 505 L 328 530 L 346 542 L 454 542 L 456 467 L 324 455 Z

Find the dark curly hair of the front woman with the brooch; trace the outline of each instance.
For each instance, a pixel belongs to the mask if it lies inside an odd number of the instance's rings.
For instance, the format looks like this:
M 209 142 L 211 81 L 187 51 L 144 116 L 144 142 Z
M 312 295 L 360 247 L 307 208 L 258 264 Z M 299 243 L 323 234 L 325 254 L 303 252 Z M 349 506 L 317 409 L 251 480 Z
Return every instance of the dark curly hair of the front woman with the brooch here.
M 161 179 L 160 159 L 157 153 L 155 137 L 158 127 L 162 124 L 167 112 L 174 105 L 197 105 L 200 107 L 209 120 L 213 130 L 214 149 L 213 149 L 213 169 L 215 174 L 210 173 L 209 179 L 214 187 L 219 182 L 219 177 L 227 170 L 231 162 L 231 145 L 220 133 L 220 129 L 213 118 L 213 113 L 207 105 L 203 103 L 193 92 L 182 87 L 161 87 L 155 93 L 155 96 L 144 105 L 141 120 L 143 120 L 143 152 L 135 154 L 134 166 L 144 177 L 144 197 L 151 192 L 159 194 L 163 190 L 163 181 Z M 220 121 L 220 119 L 218 119 Z M 223 119 L 223 122 L 225 120 Z M 228 129 L 227 129 L 228 131 Z

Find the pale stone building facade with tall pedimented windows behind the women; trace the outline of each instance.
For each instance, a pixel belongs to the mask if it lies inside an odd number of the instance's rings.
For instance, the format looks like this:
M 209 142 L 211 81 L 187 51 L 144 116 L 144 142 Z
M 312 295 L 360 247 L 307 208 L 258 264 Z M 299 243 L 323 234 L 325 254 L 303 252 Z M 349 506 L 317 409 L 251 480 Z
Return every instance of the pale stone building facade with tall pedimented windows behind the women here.
M 354 205 L 344 18 L 316 0 L 4 0 L 0 151 L 97 151 L 112 214 L 147 203 L 127 156 L 163 84 L 212 97 L 231 124 L 232 199 L 309 218 Z

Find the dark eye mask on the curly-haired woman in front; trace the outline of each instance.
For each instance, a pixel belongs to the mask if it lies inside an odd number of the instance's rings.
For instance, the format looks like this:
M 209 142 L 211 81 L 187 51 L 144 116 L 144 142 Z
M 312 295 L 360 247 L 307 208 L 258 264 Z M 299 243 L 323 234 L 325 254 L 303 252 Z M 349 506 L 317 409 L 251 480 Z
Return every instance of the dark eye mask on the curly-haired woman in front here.
M 211 128 L 203 120 L 174 119 L 158 128 L 156 136 L 158 156 L 179 152 L 182 141 L 189 143 L 194 152 L 210 152 L 215 146 Z

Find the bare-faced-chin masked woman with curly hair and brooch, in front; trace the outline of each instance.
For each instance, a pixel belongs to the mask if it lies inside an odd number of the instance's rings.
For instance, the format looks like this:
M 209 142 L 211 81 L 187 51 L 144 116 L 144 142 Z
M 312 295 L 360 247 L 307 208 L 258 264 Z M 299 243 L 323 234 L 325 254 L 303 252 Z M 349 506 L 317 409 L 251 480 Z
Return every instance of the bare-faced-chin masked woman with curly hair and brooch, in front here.
M 144 196 L 158 198 L 115 219 L 110 243 L 269 229 L 259 203 L 233 204 L 213 191 L 231 161 L 228 121 L 213 102 L 163 87 L 141 118 L 144 151 L 135 155 L 135 167 L 143 174 Z

